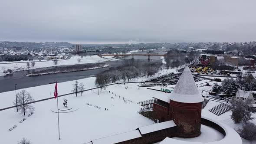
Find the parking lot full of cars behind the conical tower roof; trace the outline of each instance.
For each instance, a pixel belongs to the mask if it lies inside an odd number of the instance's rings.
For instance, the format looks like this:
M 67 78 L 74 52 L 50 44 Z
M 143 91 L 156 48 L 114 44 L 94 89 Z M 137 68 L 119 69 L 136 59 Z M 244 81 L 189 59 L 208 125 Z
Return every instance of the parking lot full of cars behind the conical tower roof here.
M 161 75 L 156 78 L 148 79 L 141 85 L 176 85 L 180 79 L 181 73 L 174 74 L 173 72 L 168 75 Z M 195 82 L 201 81 L 202 79 L 197 76 L 193 76 Z

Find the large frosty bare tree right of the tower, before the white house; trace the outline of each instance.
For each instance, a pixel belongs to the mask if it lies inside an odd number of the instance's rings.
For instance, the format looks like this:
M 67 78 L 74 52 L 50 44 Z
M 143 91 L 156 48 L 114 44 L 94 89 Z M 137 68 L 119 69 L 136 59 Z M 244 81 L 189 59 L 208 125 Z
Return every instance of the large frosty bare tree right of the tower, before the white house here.
M 235 123 L 240 123 L 241 121 L 247 123 L 250 120 L 253 120 L 252 117 L 252 108 L 251 108 L 252 99 L 247 98 L 245 101 L 240 100 L 230 100 L 230 107 L 232 111 L 231 119 Z

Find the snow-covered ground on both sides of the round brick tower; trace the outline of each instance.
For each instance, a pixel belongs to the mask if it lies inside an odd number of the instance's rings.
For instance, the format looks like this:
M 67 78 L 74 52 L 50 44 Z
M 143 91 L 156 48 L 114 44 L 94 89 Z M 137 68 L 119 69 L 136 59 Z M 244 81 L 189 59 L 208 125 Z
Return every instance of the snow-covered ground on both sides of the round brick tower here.
M 176 69 L 163 70 L 161 75 L 175 71 Z M 133 79 L 132 81 L 140 81 L 142 79 L 145 78 Z M 85 89 L 95 87 L 94 77 L 78 81 L 85 84 Z M 209 82 L 209 80 L 196 83 L 200 84 L 203 82 Z M 213 83 L 216 82 L 209 82 L 210 85 L 213 85 Z M 220 82 L 218 83 L 220 84 Z M 59 95 L 71 92 L 72 84 L 74 84 L 74 81 L 58 83 Z M 97 95 L 97 89 L 95 89 L 84 92 L 82 96 L 80 94 L 77 97 L 75 95 L 67 95 L 59 98 L 60 108 L 62 108 L 63 98 L 68 99 L 69 108 L 78 108 L 77 111 L 59 114 L 61 140 L 58 140 L 57 114 L 51 111 L 56 110 L 56 99 L 33 104 L 35 113 L 30 117 L 25 116 L 27 120 L 23 123 L 19 123 L 19 121 L 24 116 L 18 114 L 15 108 L 0 111 L 1 142 L 4 144 L 16 144 L 22 137 L 26 137 L 33 144 L 82 144 L 92 139 L 133 131 L 138 127 L 153 124 L 153 121 L 137 113 L 141 109 L 137 102 L 152 99 L 152 96 L 167 97 L 170 94 L 149 90 L 146 87 L 139 88 L 137 85 L 138 83 L 111 85 L 106 87 L 106 89 L 102 89 L 99 95 Z M 157 88 L 160 88 L 160 86 L 154 89 Z M 25 89 L 35 100 L 38 100 L 53 97 L 54 84 Z M 202 89 L 210 90 L 211 86 L 202 86 L 198 87 L 198 89 L 200 92 Z M 17 92 L 20 92 L 20 90 L 17 90 Z M 207 95 L 204 92 L 202 94 Z M 11 106 L 12 101 L 15 100 L 15 91 L 0 93 L 0 97 L 0 108 Z M 126 103 L 122 100 L 122 97 L 127 100 Z M 86 105 L 86 103 L 92 104 L 92 106 Z M 202 110 L 202 115 L 228 124 L 233 129 L 240 126 L 240 124 L 233 123 L 230 118 L 230 111 L 220 116 L 214 115 L 209 111 L 210 108 L 218 104 L 219 102 L 209 101 Z M 101 108 L 95 108 L 95 105 Z M 105 111 L 105 108 L 108 111 Z M 253 116 L 256 118 L 256 115 Z M 252 122 L 256 123 L 256 120 Z M 13 131 L 9 131 L 9 128 L 12 128 L 14 124 L 17 124 L 17 127 Z M 207 131 L 207 133 L 204 131 Z M 201 137 L 208 137 L 208 142 L 222 138 L 221 134 L 217 133 L 217 131 L 205 126 L 202 126 Z M 200 137 L 190 140 L 200 141 Z M 203 140 L 205 141 L 206 138 L 203 138 Z M 255 141 L 243 139 L 243 144 L 255 144 Z

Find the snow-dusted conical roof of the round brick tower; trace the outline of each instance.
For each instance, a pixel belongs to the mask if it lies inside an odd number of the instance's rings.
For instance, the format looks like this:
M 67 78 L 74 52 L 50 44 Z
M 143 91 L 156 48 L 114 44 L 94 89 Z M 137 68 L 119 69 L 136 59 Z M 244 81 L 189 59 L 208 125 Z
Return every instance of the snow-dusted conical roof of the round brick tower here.
M 203 101 L 203 97 L 198 92 L 197 85 L 188 66 L 182 72 L 174 91 L 170 95 L 170 99 L 183 103 L 198 103 Z

